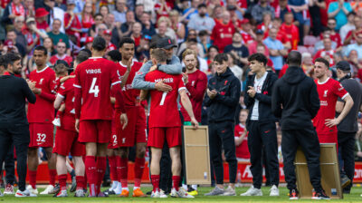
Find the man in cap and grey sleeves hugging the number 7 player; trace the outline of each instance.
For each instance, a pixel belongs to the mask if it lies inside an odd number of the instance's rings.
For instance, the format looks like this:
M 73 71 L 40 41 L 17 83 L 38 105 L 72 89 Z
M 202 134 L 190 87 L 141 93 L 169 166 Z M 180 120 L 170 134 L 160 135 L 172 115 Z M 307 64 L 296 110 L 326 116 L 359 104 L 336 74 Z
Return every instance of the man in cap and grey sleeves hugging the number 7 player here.
M 165 49 L 167 52 L 167 64 L 158 65 L 157 69 L 161 72 L 168 74 L 181 74 L 182 65 L 179 58 L 174 55 L 174 48 L 177 47 L 174 43 L 171 42 L 169 37 L 162 38 L 157 41 L 157 48 Z M 172 88 L 165 84 L 164 82 L 146 82 L 145 75 L 149 72 L 153 66 L 151 61 L 144 63 L 141 69 L 136 73 L 135 78 L 132 82 L 132 87 L 139 90 L 154 90 L 161 92 L 170 92 Z

